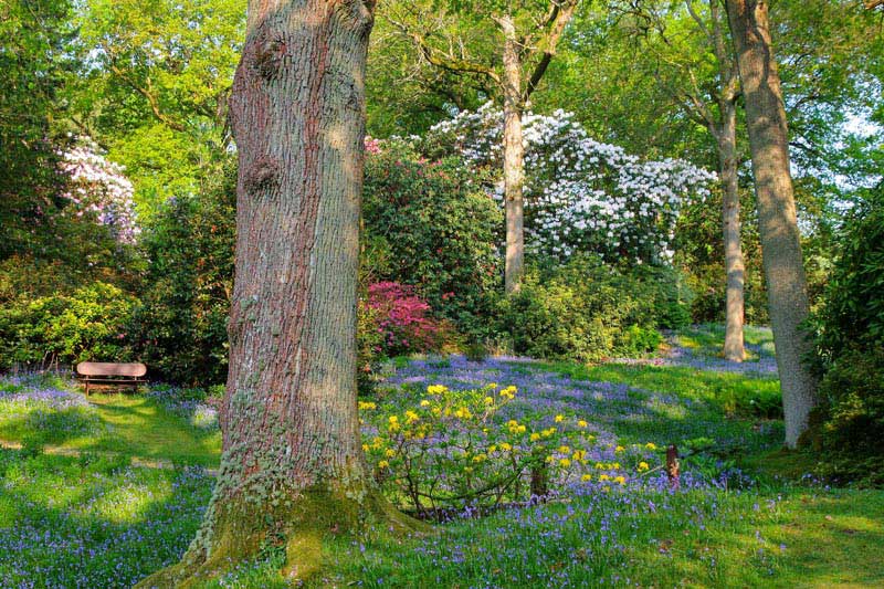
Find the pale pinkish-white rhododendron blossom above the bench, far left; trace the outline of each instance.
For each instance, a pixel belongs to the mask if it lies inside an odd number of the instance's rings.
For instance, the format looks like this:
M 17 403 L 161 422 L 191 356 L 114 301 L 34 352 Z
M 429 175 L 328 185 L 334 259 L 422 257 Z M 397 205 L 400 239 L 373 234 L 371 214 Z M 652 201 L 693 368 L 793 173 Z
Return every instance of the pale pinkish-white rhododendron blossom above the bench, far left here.
M 64 196 L 73 201 L 75 214 L 95 214 L 118 242 L 134 243 L 140 230 L 135 219 L 134 189 L 123 167 L 108 161 L 92 143 L 65 151 L 61 166 L 71 179 Z

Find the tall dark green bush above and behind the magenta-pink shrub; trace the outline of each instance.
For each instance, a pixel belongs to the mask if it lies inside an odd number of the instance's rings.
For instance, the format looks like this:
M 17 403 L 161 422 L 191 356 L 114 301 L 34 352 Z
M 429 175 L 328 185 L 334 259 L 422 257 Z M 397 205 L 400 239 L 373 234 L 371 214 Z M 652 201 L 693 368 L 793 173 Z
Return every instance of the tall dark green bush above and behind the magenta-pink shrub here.
M 412 285 L 439 318 L 483 334 L 501 286 L 499 206 L 459 159 L 390 141 L 366 164 L 364 274 Z

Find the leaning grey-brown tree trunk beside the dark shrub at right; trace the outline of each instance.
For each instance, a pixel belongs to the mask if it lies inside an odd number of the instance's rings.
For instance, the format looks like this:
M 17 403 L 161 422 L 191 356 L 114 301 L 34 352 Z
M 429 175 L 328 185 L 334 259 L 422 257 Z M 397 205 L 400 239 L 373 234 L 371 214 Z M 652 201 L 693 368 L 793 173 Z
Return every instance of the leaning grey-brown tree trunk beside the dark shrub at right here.
M 808 315 L 808 291 L 789 170 L 786 109 L 770 46 L 767 2 L 727 0 L 727 12 L 746 99 L 786 444 L 794 448 L 817 403 L 817 382 L 801 364 L 810 346 L 801 329 Z

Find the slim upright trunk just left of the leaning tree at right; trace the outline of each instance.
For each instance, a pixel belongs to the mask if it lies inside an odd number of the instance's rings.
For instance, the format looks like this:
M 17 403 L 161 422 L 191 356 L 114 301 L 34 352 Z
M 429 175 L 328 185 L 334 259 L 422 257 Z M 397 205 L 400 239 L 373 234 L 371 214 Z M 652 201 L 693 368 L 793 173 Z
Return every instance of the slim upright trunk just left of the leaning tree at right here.
M 745 265 L 740 248 L 739 186 L 737 183 L 737 107 L 723 101 L 722 128 L 718 133 L 718 167 L 724 189 L 723 225 L 725 240 L 725 358 L 741 362 Z

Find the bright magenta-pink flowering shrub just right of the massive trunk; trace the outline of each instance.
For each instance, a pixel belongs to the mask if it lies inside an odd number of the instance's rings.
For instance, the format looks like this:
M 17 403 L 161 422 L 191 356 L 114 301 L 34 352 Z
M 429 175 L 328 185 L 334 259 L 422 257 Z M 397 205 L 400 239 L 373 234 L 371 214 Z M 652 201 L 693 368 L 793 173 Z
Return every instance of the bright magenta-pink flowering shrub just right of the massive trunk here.
M 379 282 L 368 287 L 368 307 L 373 311 L 377 330 L 387 356 L 435 349 L 442 326 L 428 316 L 430 305 L 412 286 Z

